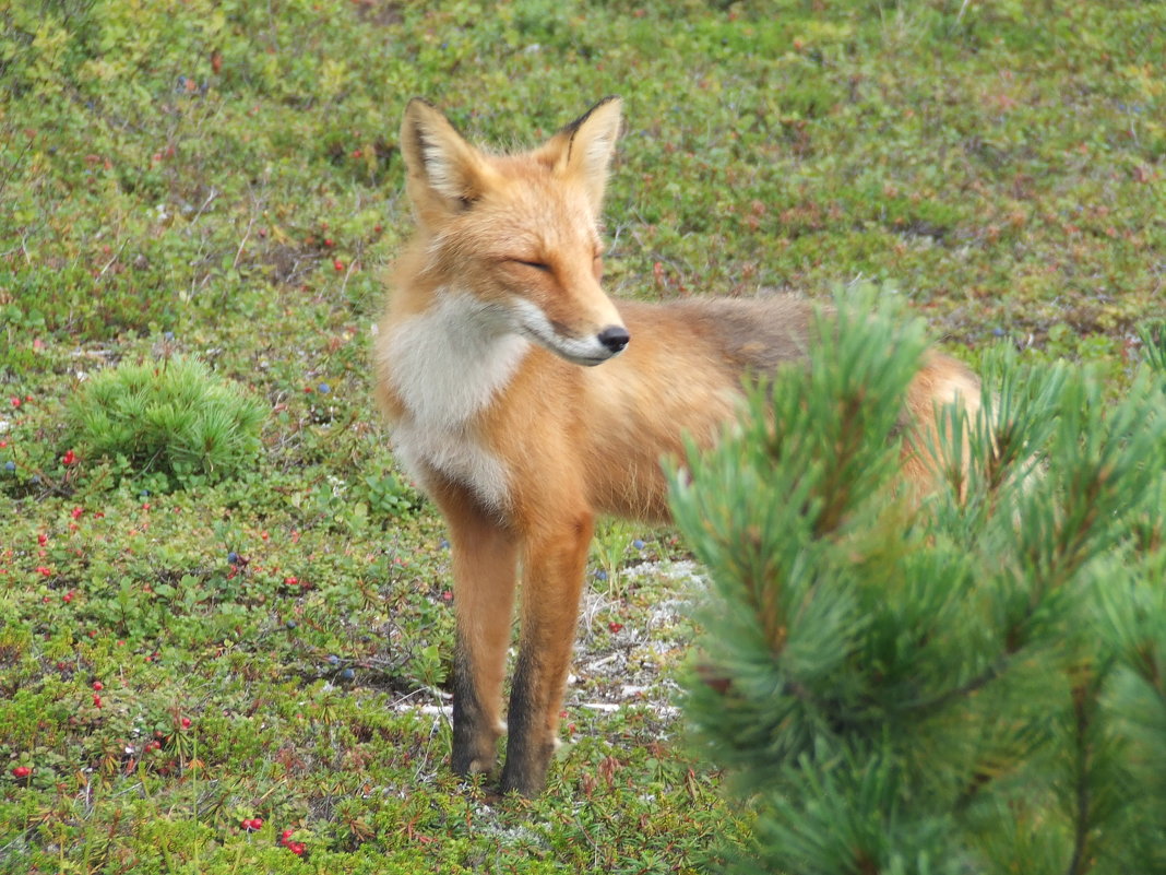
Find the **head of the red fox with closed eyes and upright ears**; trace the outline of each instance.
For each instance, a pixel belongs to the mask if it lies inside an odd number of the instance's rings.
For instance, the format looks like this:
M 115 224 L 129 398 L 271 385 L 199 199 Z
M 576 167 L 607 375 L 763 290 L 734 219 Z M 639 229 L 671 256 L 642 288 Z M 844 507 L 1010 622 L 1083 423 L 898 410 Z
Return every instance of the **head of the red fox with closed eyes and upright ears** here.
M 619 126 L 609 97 L 539 148 L 492 155 L 410 100 L 401 152 L 426 284 L 471 295 L 490 324 L 575 364 L 623 351 L 630 336 L 599 285 L 598 231 Z

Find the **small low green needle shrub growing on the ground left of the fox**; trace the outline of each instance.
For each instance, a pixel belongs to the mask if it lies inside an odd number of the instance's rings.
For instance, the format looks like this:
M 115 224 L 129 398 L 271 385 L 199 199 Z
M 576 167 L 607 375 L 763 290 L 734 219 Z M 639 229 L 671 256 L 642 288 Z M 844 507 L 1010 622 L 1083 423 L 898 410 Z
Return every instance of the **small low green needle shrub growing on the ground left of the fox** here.
M 71 446 L 108 457 L 119 480 L 156 475 L 175 489 L 254 462 L 267 412 L 196 358 L 121 364 L 85 383 L 66 407 Z

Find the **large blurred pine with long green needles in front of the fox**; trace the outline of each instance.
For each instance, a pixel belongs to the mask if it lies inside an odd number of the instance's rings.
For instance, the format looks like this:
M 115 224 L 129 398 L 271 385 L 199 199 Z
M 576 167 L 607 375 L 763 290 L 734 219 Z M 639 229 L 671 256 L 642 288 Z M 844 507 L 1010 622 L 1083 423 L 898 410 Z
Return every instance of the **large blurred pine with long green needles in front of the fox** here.
M 991 356 L 921 505 L 922 331 L 843 307 L 820 335 L 673 482 L 712 578 L 686 710 L 756 816 L 730 869 L 1166 872 L 1166 331 L 1116 401 Z

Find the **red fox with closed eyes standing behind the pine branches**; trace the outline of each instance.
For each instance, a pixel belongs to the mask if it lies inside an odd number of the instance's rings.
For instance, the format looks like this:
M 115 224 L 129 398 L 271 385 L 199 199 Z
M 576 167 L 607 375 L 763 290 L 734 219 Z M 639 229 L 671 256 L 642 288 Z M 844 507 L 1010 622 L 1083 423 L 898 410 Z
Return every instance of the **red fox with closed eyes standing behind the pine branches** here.
M 541 792 L 556 747 L 597 514 L 668 519 L 661 457 L 715 440 L 747 372 L 805 357 L 813 306 L 619 301 L 603 290 L 599 211 L 620 130 L 606 98 L 539 148 L 487 154 L 414 99 L 401 152 L 416 233 L 400 257 L 375 346 L 394 450 L 449 525 L 457 615 L 454 771 L 494 768 Z M 930 355 L 908 415 L 979 398 L 974 374 Z M 918 459 L 905 476 L 925 477 Z M 501 719 L 515 583 L 521 632 Z

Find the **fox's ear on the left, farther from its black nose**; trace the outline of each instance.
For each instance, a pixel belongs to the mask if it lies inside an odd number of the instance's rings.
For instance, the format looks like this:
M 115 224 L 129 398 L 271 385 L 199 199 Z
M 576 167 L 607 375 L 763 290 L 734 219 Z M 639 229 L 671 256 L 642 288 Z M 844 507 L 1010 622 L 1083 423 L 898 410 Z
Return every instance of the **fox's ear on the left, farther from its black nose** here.
M 423 222 L 461 212 L 482 196 L 491 169 L 442 112 L 419 97 L 401 120 L 409 200 Z

